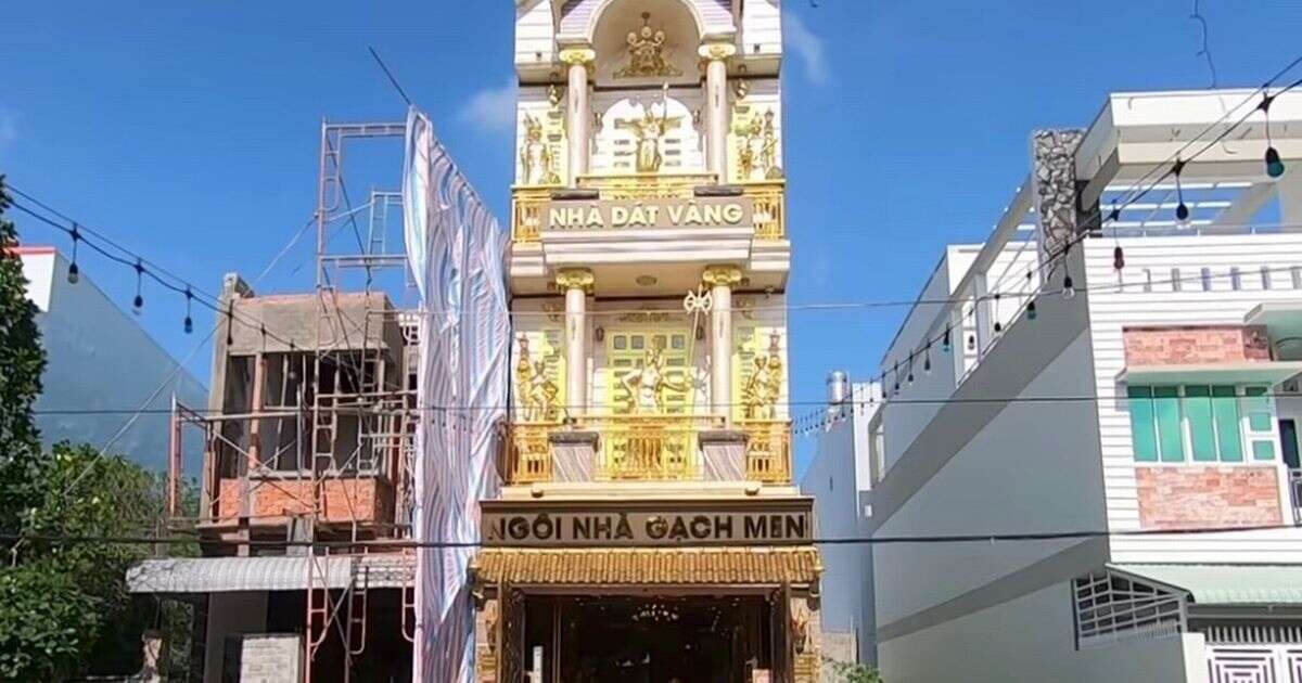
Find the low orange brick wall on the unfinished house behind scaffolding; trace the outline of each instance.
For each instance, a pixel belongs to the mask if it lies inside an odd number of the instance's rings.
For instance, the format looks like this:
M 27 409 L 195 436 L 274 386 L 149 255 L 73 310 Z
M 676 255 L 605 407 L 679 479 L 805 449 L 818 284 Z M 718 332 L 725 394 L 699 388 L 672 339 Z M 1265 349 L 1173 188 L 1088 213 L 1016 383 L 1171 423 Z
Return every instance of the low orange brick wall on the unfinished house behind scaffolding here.
M 259 518 L 270 522 L 275 516 L 292 516 L 312 509 L 312 483 L 310 480 L 253 480 L 250 514 L 253 523 Z M 238 479 L 221 480 L 221 500 L 217 516 L 240 516 Z M 391 522 L 393 496 L 388 484 L 375 477 L 328 479 L 322 483 L 322 520 L 324 522 Z

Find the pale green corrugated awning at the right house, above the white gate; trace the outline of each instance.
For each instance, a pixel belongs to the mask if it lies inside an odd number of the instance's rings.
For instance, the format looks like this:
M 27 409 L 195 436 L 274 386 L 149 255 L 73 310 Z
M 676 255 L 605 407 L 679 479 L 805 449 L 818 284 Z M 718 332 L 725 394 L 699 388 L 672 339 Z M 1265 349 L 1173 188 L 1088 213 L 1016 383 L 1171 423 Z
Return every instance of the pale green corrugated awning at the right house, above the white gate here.
M 1187 591 L 1197 605 L 1302 605 L 1302 565 L 1109 565 Z

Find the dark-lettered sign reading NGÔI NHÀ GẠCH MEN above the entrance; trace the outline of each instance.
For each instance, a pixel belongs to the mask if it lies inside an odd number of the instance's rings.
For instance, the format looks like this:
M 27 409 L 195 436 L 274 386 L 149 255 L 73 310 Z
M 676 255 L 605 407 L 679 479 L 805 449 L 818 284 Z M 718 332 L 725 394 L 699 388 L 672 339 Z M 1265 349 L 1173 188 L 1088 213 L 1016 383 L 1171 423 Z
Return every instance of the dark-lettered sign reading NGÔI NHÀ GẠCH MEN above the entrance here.
M 773 509 L 496 509 L 484 505 L 484 545 L 673 546 L 711 544 L 790 544 L 814 539 L 809 506 Z

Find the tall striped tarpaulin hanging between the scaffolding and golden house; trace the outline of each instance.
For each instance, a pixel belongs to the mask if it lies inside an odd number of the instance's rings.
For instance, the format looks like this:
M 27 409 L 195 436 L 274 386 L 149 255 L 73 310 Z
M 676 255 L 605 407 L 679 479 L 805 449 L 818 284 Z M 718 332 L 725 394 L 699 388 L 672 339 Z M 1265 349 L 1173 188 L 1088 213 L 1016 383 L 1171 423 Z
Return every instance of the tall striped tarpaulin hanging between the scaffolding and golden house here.
M 479 500 L 497 493 L 497 423 L 505 415 L 510 329 L 506 239 L 415 108 L 402 176 L 408 261 L 421 294 L 414 540 L 414 678 L 470 683 L 474 611 L 469 567 Z

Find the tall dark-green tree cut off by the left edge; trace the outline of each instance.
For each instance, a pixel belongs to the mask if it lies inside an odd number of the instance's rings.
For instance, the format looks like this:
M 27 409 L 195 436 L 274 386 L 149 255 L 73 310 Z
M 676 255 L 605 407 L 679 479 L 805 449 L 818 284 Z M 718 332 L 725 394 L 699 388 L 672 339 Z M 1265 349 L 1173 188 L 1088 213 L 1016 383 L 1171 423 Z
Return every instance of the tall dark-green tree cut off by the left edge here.
M 40 496 L 40 464 L 31 407 L 40 394 L 46 351 L 36 328 L 36 306 L 27 299 L 22 261 L 10 247 L 18 243 L 13 221 L 4 213 L 9 193 L 0 176 L 0 533 L 14 533 L 21 515 Z M 8 549 L 0 541 L 0 550 Z

